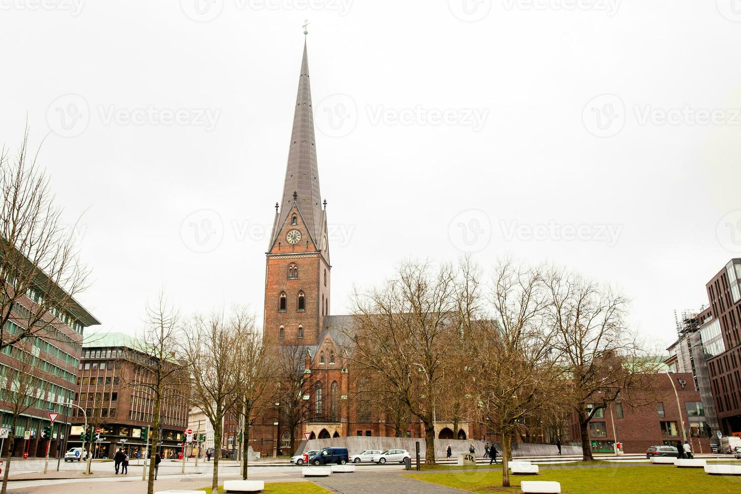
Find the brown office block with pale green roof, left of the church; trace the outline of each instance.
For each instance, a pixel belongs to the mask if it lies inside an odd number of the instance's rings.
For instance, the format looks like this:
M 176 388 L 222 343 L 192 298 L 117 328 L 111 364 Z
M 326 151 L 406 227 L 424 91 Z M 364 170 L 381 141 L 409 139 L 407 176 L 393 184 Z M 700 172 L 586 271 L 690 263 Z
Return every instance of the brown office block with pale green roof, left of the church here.
M 142 352 L 141 341 L 123 333 L 98 333 L 86 338 L 77 376 L 75 409 L 69 447 L 79 447 L 85 416 L 93 428 L 102 429 L 101 440 L 93 447 L 95 458 L 111 457 L 119 447 L 131 458 L 143 453 L 151 439 L 154 401 L 150 390 L 140 383 L 151 382 L 142 363 L 153 357 Z M 188 426 L 187 390 L 165 393 L 160 410 L 162 441 L 157 450 L 166 458 L 182 451 Z M 147 436 L 145 439 L 144 436 Z M 152 445 L 150 444 L 150 449 Z

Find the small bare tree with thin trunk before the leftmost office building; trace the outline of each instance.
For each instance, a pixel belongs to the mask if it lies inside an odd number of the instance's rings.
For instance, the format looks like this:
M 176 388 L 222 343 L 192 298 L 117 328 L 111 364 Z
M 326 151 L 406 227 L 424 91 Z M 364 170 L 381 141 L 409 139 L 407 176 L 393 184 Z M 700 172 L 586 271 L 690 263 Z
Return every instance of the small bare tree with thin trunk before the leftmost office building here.
M 33 356 L 33 345 L 28 341 L 19 341 L 10 347 L 10 357 L 14 359 L 13 367 L 1 367 L 0 402 L 10 412 L 10 435 L 5 457 L 5 472 L 2 479 L 1 494 L 7 493 L 7 478 L 10 473 L 10 461 L 13 458 L 13 445 L 16 439 L 16 427 L 21 415 L 30 408 L 39 408 L 40 401 L 49 390 L 50 375 L 41 370 L 38 358 Z

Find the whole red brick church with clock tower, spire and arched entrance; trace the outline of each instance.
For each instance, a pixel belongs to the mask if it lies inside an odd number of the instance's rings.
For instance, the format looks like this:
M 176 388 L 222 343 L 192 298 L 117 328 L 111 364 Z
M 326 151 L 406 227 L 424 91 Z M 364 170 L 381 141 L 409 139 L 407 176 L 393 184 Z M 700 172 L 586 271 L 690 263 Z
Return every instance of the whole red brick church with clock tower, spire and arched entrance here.
M 276 351 L 279 347 L 300 345 L 305 353 L 305 376 L 313 385 L 311 395 L 304 396 L 309 410 L 307 420 L 295 431 L 296 444 L 290 444 L 290 431 L 282 423 L 276 404 L 250 428 L 250 446 L 263 455 L 275 453 L 276 446 L 286 454 L 295 450 L 305 433 L 310 438 L 395 435 L 393 428 L 369 413 L 362 401 L 356 406 L 355 385 L 342 353 L 341 328 L 350 324 L 352 317 L 331 313 L 327 203 L 319 189 L 306 44 L 282 199 L 276 203 L 266 254 L 265 342 Z M 441 421 L 437 429 L 445 438 L 469 435 L 468 425 L 453 427 Z M 407 424 L 405 435 L 424 437 L 424 429 L 413 419 Z

